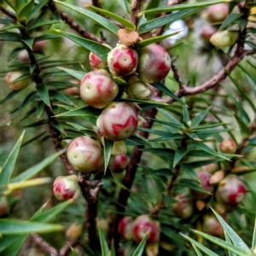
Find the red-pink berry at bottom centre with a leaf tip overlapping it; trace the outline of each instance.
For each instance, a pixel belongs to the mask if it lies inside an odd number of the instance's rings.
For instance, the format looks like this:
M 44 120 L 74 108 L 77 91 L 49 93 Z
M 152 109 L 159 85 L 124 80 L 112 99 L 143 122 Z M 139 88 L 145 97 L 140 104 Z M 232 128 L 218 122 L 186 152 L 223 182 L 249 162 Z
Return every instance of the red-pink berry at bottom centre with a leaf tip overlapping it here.
M 148 233 L 147 243 L 154 243 L 160 239 L 160 223 L 148 215 L 137 217 L 133 223 L 132 233 L 134 240 L 138 243 L 143 240 Z

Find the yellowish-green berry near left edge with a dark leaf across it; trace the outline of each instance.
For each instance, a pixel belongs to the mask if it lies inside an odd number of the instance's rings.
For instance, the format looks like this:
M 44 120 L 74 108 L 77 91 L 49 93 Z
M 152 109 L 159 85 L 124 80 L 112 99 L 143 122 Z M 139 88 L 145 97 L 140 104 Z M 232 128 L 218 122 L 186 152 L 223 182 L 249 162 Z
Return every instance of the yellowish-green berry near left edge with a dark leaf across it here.
M 13 84 L 13 81 L 15 81 L 16 79 L 19 79 L 22 75 L 23 73 L 21 73 L 20 71 L 14 71 L 14 72 L 9 72 L 5 76 L 4 78 L 5 82 L 8 85 L 10 90 L 22 90 L 26 88 L 29 84 L 31 84 L 30 78 L 22 79 L 19 82 Z

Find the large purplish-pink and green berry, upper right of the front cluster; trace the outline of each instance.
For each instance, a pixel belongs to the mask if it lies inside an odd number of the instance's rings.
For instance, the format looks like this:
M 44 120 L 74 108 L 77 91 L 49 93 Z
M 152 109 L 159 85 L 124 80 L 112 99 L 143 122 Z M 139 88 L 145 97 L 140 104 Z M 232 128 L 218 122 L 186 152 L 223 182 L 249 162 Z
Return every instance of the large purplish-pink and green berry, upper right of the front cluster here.
M 138 73 L 144 83 L 165 79 L 171 69 L 171 57 L 159 44 L 149 44 L 139 52 Z

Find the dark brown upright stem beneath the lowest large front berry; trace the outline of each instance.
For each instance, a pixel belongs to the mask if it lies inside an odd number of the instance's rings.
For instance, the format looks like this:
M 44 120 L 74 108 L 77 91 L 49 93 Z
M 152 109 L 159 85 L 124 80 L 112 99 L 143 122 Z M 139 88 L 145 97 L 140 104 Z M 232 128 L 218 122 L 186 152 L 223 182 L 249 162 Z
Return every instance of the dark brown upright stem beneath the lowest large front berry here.
M 99 181 L 90 183 L 89 179 L 90 174 L 79 176 L 79 185 L 85 199 L 85 224 L 88 230 L 90 247 L 94 250 L 99 250 L 100 241 L 96 229 L 96 218 L 98 209 L 98 195 L 103 183 L 100 183 Z M 95 185 L 94 189 L 90 188 L 92 185 Z

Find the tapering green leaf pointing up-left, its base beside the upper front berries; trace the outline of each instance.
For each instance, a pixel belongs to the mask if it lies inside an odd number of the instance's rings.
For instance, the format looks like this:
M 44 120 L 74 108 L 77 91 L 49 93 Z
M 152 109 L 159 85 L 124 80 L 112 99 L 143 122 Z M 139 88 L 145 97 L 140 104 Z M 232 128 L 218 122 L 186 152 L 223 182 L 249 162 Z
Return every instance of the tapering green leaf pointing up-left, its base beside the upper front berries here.
M 61 30 L 57 30 L 57 32 L 61 33 L 61 35 L 65 36 L 66 38 L 72 40 L 74 43 L 83 46 L 85 49 L 90 50 L 91 52 L 95 53 L 98 57 L 100 57 L 103 61 L 107 61 L 108 52 L 111 50 L 108 47 L 104 46 L 103 44 L 96 43 L 95 41 L 81 38 L 79 36 L 75 36 L 71 33 L 63 32 Z

